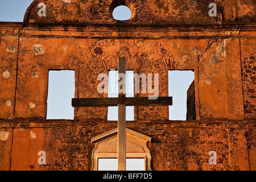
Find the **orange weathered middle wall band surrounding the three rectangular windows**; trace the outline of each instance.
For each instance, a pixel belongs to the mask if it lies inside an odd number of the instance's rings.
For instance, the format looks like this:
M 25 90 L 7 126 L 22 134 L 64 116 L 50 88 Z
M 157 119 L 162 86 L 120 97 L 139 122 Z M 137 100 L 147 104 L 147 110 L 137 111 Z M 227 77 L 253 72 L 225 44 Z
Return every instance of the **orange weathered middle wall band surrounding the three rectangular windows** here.
M 1 77 L 2 119 L 46 118 L 48 71 L 51 69 L 76 71 L 75 97 L 107 97 L 97 92 L 100 82 L 97 76 L 108 73 L 109 69 L 117 69 L 117 52 L 127 57 L 127 69 L 134 70 L 134 73 L 159 73 L 159 96 L 168 95 L 168 70 L 193 70 L 196 76 L 197 119 L 244 117 L 240 52 L 236 51 L 240 47 L 239 39 L 171 39 L 170 36 L 170 39 L 154 40 L 118 37 L 96 40 L 55 38 L 52 34 L 46 35 L 47 38 L 38 37 L 32 35 L 39 33 L 37 28 L 32 32 L 21 31 L 26 36 L 20 36 L 19 52 L 16 51 L 19 55 L 18 71 L 14 70 L 16 60 L 11 61 L 15 52 L 6 50 L 12 45 L 1 46 L 4 63 L 1 71 L 3 74 L 6 71 L 11 73 L 10 78 Z M 10 38 L 3 37 L 2 42 Z M 41 53 L 38 51 L 40 48 L 43 50 Z M 10 61 L 7 61 L 9 57 Z M 5 89 L 6 86 L 10 89 Z M 148 93 L 135 95 L 142 96 L 148 96 Z M 10 106 L 6 106 L 8 99 Z M 141 106 L 135 109 L 138 109 L 135 119 L 168 120 L 167 106 Z M 75 118 L 106 119 L 106 115 L 106 108 L 79 108 Z

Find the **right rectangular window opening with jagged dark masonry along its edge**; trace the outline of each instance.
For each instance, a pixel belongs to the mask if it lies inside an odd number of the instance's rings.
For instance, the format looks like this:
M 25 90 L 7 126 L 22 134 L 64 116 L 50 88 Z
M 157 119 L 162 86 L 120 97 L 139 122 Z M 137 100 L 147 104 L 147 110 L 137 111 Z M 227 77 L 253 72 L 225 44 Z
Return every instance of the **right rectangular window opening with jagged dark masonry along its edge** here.
M 170 120 L 196 120 L 194 80 L 193 71 L 168 71 L 168 93 L 172 97 L 172 106 L 169 106 Z

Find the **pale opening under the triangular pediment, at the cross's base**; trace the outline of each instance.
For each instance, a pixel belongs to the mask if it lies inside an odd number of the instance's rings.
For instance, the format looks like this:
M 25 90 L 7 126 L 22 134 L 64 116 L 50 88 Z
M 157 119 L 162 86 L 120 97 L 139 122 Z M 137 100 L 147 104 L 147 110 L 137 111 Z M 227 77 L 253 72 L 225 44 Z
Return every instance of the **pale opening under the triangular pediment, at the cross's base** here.
M 98 171 L 117 171 L 117 158 L 98 159 Z M 145 171 L 145 159 L 126 159 L 126 171 Z

